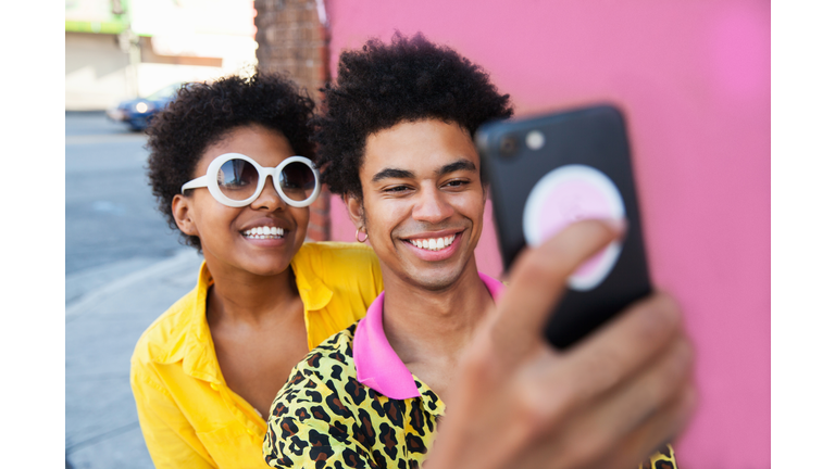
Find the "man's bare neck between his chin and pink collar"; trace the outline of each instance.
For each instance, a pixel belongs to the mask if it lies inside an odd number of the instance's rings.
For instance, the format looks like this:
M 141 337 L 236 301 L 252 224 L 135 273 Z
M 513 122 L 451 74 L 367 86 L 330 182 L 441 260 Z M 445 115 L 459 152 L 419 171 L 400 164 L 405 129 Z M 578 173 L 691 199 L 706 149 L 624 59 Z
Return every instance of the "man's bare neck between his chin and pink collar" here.
M 384 267 L 383 328 L 397 355 L 407 366 L 456 362 L 493 307 L 475 258 L 470 259 L 452 284 L 440 291 L 395 277 Z

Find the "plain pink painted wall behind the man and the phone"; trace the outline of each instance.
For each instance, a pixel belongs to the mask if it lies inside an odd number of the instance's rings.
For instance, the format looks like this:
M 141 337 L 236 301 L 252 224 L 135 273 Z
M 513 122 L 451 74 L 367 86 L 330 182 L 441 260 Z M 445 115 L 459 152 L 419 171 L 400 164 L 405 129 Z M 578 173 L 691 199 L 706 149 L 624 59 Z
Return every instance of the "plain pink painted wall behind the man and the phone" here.
M 653 281 L 685 309 L 700 406 L 681 467 L 771 467 L 770 3 L 329 0 L 338 52 L 423 31 L 519 115 L 610 101 L 628 121 Z M 334 233 L 353 239 L 341 202 Z M 479 267 L 498 274 L 491 230 Z

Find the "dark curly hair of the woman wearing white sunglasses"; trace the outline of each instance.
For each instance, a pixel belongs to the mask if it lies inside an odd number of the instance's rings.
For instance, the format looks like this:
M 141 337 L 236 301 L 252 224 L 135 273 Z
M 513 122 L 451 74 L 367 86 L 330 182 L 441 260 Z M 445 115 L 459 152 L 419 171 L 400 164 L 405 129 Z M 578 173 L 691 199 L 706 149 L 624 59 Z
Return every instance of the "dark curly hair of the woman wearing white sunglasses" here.
M 147 130 L 149 183 L 169 226 L 177 230 L 171 202 L 195 177 L 205 149 L 235 128 L 261 125 L 287 138 L 296 154 L 314 159 L 308 126 L 313 107 L 307 91 L 299 90 L 289 78 L 259 71 L 249 77 L 183 85 Z M 186 245 L 201 249 L 198 237 L 180 234 Z

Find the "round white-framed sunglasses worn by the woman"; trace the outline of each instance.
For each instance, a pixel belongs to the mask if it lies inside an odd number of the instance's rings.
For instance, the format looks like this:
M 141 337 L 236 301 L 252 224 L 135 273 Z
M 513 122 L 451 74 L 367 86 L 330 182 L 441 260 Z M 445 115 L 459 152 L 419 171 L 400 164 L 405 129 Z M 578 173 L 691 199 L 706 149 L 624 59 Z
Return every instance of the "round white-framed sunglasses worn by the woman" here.
M 180 192 L 204 187 L 217 202 L 241 207 L 258 199 L 267 176 L 273 177 L 275 191 L 290 206 L 312 204 L 322 190 L 316 165 L 304 156 L 290 156 L 274 168 L 265 168 L 247 155 L 225 153 L 209 164 L 205 176 L 184 183 Z

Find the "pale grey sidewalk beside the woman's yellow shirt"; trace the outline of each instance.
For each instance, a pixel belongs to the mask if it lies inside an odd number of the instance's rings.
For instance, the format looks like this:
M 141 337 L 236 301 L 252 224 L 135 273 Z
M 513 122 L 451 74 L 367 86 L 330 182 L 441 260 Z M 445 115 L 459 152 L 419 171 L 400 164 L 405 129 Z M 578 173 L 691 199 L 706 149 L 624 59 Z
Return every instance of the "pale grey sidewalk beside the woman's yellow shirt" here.
M 153 468 L 130 393 L 130 354 L 142 331 L 195 287 L 201 261 L 184 250 L 67 280 L 67 467 Z M 79 282 L 97 287 L 80 293 Z

